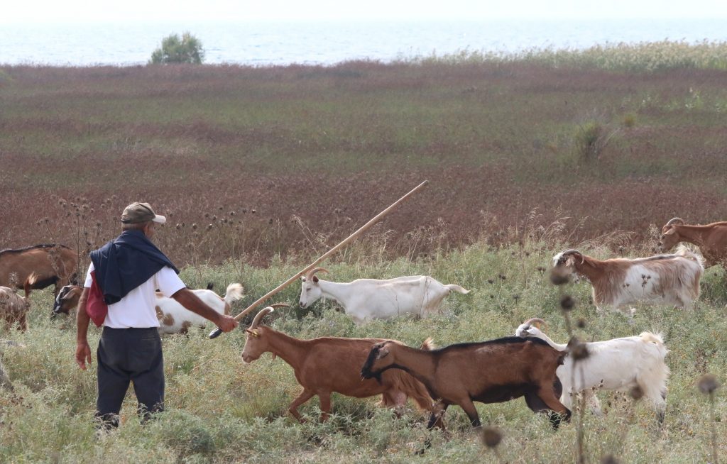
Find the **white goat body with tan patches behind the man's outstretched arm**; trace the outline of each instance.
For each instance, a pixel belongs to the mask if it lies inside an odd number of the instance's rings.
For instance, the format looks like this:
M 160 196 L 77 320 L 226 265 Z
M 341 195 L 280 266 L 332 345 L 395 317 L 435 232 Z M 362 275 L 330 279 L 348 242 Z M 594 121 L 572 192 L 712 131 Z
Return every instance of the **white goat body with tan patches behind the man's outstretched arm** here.
M 230 305 L 243 296 L 242 285 L 232 283 L 228 285 L 224 297 L 217 295 L 212 290 L 192 290 L 204 304 L 220 314 L 230 314 Z M 167 298 L 156 294 L 156 317 L 159 319 L 159 333 L 187 333 L 189 327 L 196 325 L 204 327 L 207 319 L 186 309 L 177 303 L 174 298 Z

